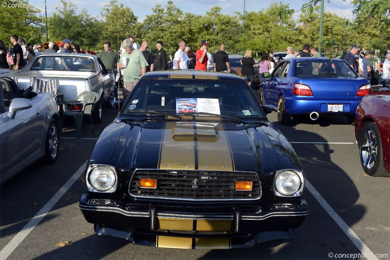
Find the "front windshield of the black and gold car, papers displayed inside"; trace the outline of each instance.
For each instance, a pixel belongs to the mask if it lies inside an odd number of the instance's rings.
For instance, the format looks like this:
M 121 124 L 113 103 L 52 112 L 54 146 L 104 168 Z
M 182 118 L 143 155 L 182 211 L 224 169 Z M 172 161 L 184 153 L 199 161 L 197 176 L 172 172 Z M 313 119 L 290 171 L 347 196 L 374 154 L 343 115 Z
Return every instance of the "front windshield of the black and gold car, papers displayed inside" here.
M 264 118 L 245 81 L 144 79 L 123 109 L 125 114 L 137 111 Z

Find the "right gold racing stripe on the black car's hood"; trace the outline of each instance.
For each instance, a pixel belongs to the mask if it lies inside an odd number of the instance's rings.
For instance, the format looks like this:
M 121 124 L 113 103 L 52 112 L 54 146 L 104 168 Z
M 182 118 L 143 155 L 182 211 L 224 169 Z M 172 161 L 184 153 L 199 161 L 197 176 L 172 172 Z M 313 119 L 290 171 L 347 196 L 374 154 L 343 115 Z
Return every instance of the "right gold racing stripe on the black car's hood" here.
M 214 117 L 213 120 L 218 119 Z M 233 171 L 232 149 L 223 124 L 207 123 L 207 125 L 214 126 L 216 138 L 197 138 L 199 170 Z

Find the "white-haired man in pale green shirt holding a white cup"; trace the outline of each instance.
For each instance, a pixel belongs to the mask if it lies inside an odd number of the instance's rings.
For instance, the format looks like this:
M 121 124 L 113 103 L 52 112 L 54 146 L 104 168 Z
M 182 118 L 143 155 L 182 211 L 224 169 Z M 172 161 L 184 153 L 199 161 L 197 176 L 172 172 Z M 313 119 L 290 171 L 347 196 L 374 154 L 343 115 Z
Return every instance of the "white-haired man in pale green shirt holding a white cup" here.
M 149 64 L 142 52 L 133 48 L 129 39 L 123 40 L 122 47 L 124 51 L 119 59 L 117 75 L 119 76 L 119 70 L 122 70 L 123 98 L 126 99 L 141 76 L 146 73 L 146 66 Z

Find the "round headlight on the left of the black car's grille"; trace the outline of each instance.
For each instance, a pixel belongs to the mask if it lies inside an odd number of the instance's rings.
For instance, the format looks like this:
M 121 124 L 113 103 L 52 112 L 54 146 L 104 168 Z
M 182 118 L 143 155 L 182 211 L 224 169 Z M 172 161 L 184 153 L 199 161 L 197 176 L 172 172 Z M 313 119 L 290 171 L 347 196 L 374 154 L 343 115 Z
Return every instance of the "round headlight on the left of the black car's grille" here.
M 85 183 L 89 191 L 112 193 L 117 190 L 117 171 L 115 167 L 90 165 L 85 176 Z

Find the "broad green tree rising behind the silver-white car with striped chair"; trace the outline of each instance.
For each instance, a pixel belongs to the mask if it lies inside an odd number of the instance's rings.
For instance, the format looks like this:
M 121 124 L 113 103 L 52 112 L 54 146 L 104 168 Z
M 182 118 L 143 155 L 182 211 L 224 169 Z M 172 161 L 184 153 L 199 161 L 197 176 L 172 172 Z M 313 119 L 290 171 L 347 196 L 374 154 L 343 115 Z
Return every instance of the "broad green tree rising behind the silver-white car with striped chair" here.
M 49 39 L 69 38 L 83 49 L 96 48 L 101 34 L 98 20 L 88 15 L 85 9 L 77 14 L 77 7 L 73 3 L 61 0 L 61 6 L 47 19 Z

